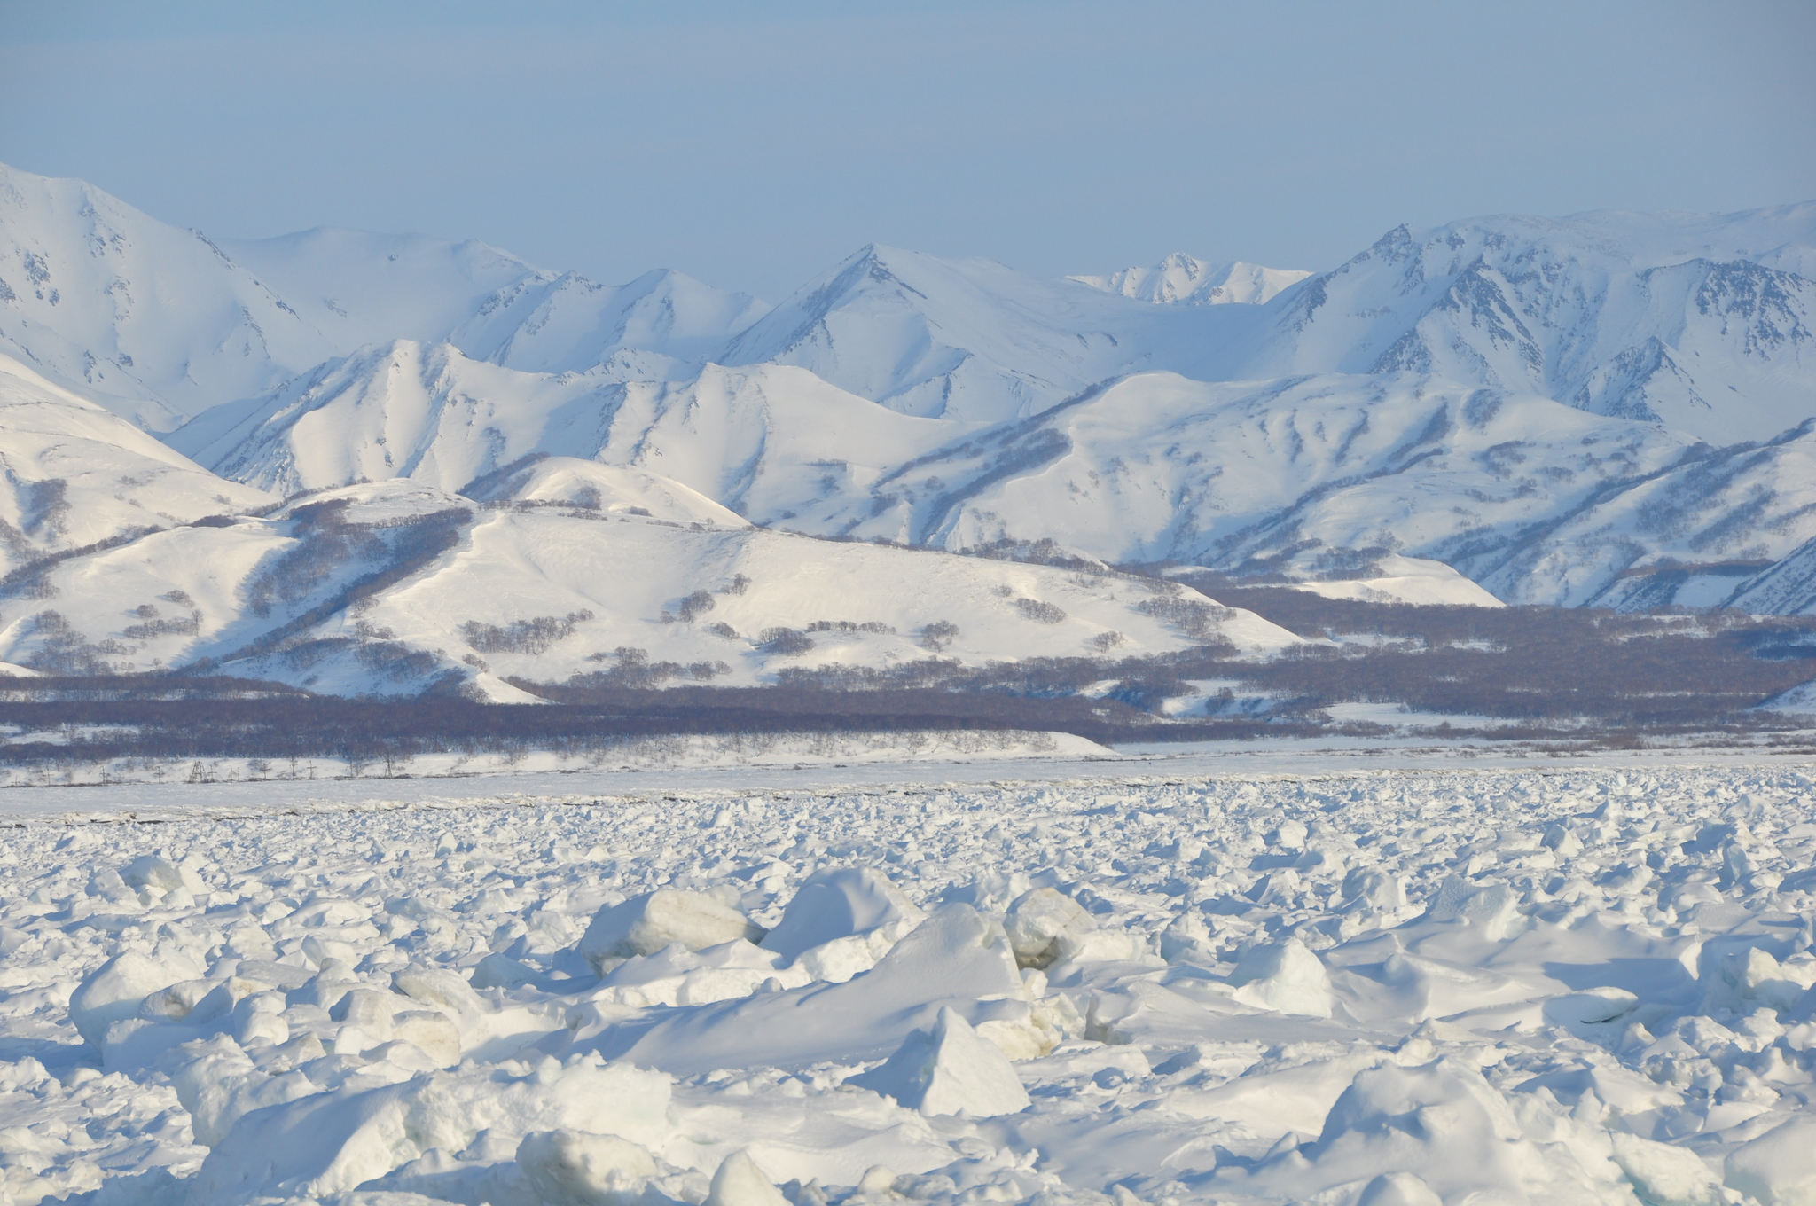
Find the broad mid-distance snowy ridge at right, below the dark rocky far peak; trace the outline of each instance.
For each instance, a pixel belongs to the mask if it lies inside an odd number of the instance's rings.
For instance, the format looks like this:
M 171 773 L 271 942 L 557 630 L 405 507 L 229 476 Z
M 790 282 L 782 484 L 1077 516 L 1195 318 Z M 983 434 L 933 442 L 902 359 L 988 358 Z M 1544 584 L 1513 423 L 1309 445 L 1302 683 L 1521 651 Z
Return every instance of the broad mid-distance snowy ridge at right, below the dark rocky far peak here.
M 1645 558 L 1783 556 L 1816 534 L 1812 454 L 1809 436 L 1718 452 L 1415 374 L 1144 374 L 924 456 L 846 518 L 946 549 L 1048 536 L 1108 561 L 1288 558 L 1311 578 L 1322 550 L 1397 550 L 1507 601 L 1574 605 Z

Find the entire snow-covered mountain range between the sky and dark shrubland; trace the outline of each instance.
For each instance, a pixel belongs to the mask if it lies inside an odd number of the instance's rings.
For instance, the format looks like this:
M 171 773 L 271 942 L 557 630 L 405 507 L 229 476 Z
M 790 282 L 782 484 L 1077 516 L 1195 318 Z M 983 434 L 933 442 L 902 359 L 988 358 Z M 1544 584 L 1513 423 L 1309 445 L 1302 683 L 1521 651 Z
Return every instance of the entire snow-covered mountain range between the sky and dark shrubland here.
M 1801 203 L 1398 227 L 1318 274 L 872 245 L 770 305 L 209 240 L 0 167 L 0 659 L 503 699 L 1293 639 L 1115 565 L 1811 612 L 1812 276 Z M 1031 549 L 1095 568 L 1001 559 Z

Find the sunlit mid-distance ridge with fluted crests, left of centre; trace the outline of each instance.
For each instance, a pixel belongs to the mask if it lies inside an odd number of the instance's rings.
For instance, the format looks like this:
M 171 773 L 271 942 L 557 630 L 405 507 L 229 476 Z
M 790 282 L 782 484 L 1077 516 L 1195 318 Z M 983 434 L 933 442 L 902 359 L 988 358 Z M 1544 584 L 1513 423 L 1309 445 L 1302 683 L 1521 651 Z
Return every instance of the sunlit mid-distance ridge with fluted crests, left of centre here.
M 525 456 L 637 467 L 750 519 L 861 494 L 899 460 L 970 427 L 919 420 L 794 367 L 708 365 L 686 381 L 518 372 L 449 343 L 365 349 L 280 390 L 216 407 L 171 445 L 291 494 L 410 478 L 459 490 Z

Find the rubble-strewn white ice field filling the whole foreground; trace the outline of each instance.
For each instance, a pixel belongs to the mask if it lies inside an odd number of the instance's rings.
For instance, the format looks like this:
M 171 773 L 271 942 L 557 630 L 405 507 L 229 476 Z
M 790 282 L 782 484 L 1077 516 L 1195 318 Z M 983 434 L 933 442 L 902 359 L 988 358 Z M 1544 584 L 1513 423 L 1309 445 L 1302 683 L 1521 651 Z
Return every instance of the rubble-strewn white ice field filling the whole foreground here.
M 9 1201 L 1816 1195 L 1809 765 L 223 806 L 0 852 Z

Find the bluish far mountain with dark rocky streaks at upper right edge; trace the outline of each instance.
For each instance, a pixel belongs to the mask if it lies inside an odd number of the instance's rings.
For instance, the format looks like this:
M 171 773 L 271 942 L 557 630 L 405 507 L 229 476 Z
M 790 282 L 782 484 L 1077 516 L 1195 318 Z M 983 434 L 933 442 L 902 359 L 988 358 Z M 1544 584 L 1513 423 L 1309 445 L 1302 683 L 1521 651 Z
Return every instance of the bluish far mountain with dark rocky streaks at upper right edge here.
M 1398 227 L 1273 307 L 1242 372 L 1418 371 L 1711 443 L 1812 414 L 1816 203 Z

